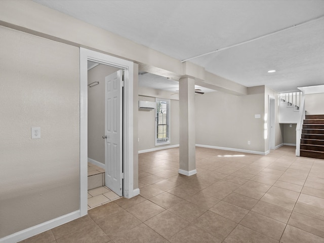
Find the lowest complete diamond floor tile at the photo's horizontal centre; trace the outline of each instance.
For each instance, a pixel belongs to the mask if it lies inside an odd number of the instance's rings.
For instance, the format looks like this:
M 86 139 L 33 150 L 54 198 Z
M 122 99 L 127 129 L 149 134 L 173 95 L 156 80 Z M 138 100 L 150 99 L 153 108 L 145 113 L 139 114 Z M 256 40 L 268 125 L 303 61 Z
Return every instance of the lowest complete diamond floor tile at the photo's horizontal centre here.
M 161 236 L 165 237 L 166 239 L 170 239 L 173 235 L 186 227 L 188 225 L 188 221 L 169 211 L 164 211 L 163 213 L 160 213 L 145 221 L 145 224 Z

